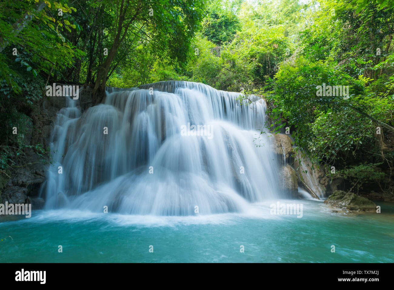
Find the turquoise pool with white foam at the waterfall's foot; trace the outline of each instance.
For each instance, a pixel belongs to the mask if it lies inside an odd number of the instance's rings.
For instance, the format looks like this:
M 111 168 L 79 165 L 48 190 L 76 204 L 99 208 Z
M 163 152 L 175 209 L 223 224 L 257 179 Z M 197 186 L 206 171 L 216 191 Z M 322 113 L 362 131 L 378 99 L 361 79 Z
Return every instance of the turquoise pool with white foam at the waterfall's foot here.
M 392 204 L 378 202 L 379 214 L 345 216 L 322 201 L 281 200 L 303 204 L 297 218 L 271 215 L 276 202 L 242 214 L 186 217 L 33 211 L 30 219 L 0 223 L 0 236 L 13 238 L 0 242 L 0 262 L 394 261 Z

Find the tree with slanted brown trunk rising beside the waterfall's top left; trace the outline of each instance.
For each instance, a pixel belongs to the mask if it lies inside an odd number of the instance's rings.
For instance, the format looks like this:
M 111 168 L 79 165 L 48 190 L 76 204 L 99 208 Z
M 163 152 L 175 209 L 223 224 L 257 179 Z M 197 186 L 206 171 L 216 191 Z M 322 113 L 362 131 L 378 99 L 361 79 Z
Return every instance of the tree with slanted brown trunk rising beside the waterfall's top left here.
M 113 6 L 113 1 L 106 5 Z M 92 92 L 94 101 L 102 101 L 113 60 L 125 39 L 130 37 L 133 41 L 152 45 L 160 54 L 178 62 L 185 61 L 190 39 L 199 27 L 203 11 L 202 1 L 189 4 L 186 0 L 118 0 L 113 9 L 116 20 L 109 31 L 113 35 L 112 45 L 97 72 Z

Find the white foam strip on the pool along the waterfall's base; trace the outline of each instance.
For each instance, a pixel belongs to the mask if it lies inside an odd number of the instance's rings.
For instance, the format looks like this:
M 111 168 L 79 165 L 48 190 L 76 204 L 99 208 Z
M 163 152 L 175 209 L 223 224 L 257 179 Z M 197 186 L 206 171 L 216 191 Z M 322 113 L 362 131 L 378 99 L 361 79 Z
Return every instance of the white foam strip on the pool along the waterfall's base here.
M 36 210 L 29 219 L 21 218 L 16 223 L 84 223 L 100 221 L 100 223 L 107 223 L 110 226 L 176 226 L 176 225 L 201 225 L 201 224 L 232 224 L 242 219 L 262 219 L 266 220 L 280 220 L 280 219 L 294 219 L 293 215 L 276 215 L 271 213 L 271 205 L 277 204 L 303 204 L 303 218 L 316 217 L 322 213 L 328 213 L 326 206 L 317 200 L 294 200 L 294 199 L 272 199 L 264 200 L 264 202 L 256 202 L 246 204 L 244 211 L 238 213 L 215 213 L 207 215 L 188 215 L 188 216 L 159 216 L 159 215 L 130 215 L 121 213 L 100 213 L 90 210 L 80 210 L 72 208 L 61 208 L 56 210 Z

